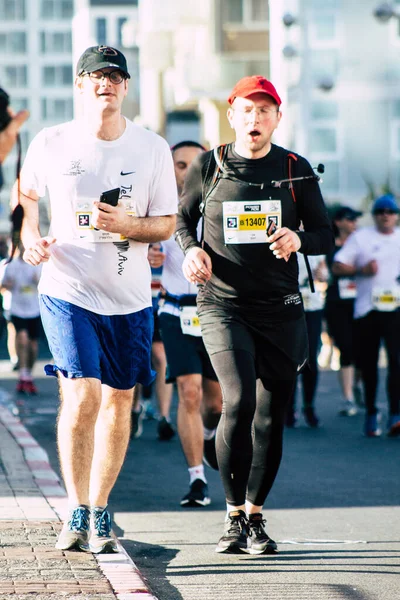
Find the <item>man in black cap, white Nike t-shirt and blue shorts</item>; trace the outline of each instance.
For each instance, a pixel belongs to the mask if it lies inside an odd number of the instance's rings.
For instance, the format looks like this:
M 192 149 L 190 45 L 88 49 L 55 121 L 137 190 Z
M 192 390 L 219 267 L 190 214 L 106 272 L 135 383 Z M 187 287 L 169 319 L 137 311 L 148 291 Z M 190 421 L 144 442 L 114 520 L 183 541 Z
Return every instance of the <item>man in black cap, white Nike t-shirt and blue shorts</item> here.
M 21 173 L 24 259 L 44 263 L 41 316 L 61 391 L 58 448 L 70 515 L 56 547 L 115 551 L 108 497 L 130 434 L 133 388 L 149 384 L 149 242 L 169 238 L 177 194 L 165 140 L 122 116 L 125 57 L 88 48 L 77 65 L 82 117 L 42 130 Z M 50 197 L 42 237 L 38 203 Z M 113 190 L 115 206 L 99 202 Z

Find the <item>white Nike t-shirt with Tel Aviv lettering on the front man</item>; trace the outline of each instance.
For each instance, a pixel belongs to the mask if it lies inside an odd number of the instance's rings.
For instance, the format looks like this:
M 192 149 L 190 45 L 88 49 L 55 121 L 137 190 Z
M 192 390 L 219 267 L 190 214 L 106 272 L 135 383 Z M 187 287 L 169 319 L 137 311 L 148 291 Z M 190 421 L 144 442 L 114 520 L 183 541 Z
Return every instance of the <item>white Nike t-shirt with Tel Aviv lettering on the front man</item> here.
M 120 203 L 137 217 L 177 211 L 171 152 L 157 134 L 126 120 L 114 141 L 99 140 L 84 122 L 43 129 L 29 146 L 21 187 L 49 192 L 56 238 L 43 266 L 39 292 L 102 315 L 151 306 L 148 244 L 96 232 L 91 207 L 102 192 L 119 187 Z

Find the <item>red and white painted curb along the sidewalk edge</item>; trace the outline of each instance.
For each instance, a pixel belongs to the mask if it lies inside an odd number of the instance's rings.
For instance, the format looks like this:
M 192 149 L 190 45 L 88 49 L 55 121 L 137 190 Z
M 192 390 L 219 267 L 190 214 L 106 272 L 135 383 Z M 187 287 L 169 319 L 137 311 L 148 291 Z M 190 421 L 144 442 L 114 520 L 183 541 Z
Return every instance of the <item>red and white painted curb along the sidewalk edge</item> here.
M 47 452 L 32 437 L 21 420 L 7 408 L 12 404 L 11 395 L 1 390 L 0 422 L 21 448 L 37 487 L 54 513 L 54 520 L 62 521 L 66 513 L 67 493 L 50 465 Z M 118 540 L 117 545 L 118 554 L 95 554 L 94 557 L 118 600 L 158 600 L 150 591 L 147 580 Z

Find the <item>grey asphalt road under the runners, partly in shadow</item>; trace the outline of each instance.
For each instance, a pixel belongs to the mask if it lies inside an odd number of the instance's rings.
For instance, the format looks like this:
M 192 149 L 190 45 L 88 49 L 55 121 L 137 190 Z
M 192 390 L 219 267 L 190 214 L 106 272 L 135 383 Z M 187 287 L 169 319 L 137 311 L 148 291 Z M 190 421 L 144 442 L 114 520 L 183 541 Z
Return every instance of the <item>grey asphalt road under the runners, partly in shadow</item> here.
M 0 387 L 12 392 L 15 381 L 4 365 Z M 56 382 L 38 385 L 40 395 L 20 404 L 20 416 L 58 469 Z M 15 399 L 11 395 L 11 406 Z M 366 439 L 363 414 L 338 416 L 338 401 L 337 374 L 322 372 L 321 428 L 301 421 L 286 431 L 265 510 L 280 549 L 272 557 L 214 552 L 225 509 L 218 473 L 207 469 L 211 505 L 182 509 L 188 475 L 179 441 L 158 441 L 155 421 L 144 422 L 110 509 L 117 534 L 159 600 L 400 599 L 400 438 Z

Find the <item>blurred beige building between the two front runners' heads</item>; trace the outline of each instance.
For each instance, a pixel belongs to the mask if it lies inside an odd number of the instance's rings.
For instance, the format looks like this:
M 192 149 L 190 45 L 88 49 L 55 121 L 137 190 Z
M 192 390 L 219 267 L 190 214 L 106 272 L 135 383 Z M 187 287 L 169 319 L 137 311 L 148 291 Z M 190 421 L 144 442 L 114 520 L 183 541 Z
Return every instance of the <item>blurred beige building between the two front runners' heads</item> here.
M 143 124 L 171 144 L 231 141 L 233 85 L 269 72 L 267 0 L 145 0 L 137 40 Z

